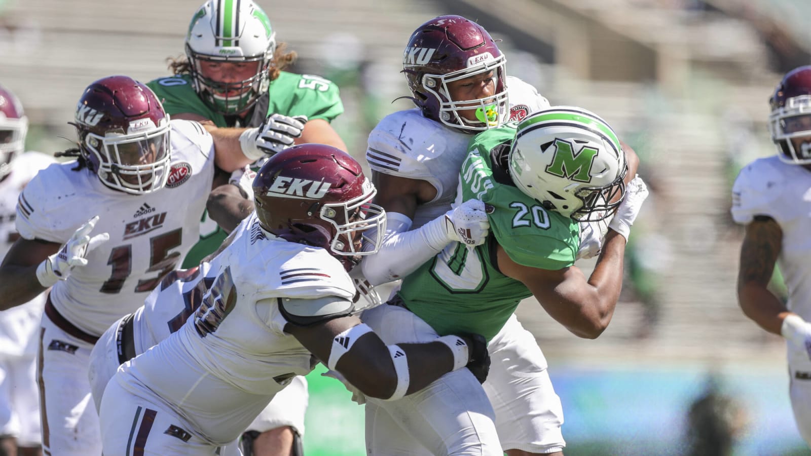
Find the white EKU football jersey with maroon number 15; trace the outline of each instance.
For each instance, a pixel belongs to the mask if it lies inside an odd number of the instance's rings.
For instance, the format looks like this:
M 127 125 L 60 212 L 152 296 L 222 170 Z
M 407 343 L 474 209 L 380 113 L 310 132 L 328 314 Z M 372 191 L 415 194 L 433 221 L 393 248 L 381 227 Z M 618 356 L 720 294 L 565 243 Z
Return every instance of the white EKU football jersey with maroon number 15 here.
M 54 164 L 25 187 L 17 204 L 17 230 L 25 239 L 66 243 L 100 216 L 92 234 L 109 241 L 88 253 L 88 265 L 51 290 L 54 308 L 77 328 L 101 335 L 134 312 L 166 273 L 200 239 L 200 215 L 214 176 L 212 137 L 199 123 L 171 122 L 169 181 L 159 191 L 131 195 L 101 183 L 75 161 Z

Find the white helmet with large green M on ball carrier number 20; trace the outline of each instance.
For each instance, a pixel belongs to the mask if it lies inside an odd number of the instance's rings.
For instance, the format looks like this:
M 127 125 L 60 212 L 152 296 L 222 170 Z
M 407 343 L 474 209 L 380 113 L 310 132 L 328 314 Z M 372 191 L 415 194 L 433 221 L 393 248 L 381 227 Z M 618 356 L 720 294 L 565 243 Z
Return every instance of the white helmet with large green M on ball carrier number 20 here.
M 608 217 L 625 193 L 620 140 L 602 118 L 575 106 L 552 106 L 518 123 L 508 160 L 521 191 L 578 222 Z

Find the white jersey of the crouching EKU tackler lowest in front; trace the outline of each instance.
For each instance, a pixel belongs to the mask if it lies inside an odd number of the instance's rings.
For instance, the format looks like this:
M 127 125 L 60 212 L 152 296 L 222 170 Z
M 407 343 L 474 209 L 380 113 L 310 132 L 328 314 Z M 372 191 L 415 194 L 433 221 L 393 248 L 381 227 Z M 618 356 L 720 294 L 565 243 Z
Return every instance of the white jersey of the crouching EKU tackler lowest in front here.
M 214 445 L 236 439 L 274 394 L 315 365 L 315 357 L 284 332 L 287 320 L 277 299 L 351 301 L 355 294 L 349 274 L 323 248 L 268 234 L 255 213 L 238 230 L 207 273 L 183 286 L 182 298 L 201 299 L 200 308 L 115 377 L 135 394 L 157 394 L 172 404 Z M 163 296 L 158 299 L 162 306 Z

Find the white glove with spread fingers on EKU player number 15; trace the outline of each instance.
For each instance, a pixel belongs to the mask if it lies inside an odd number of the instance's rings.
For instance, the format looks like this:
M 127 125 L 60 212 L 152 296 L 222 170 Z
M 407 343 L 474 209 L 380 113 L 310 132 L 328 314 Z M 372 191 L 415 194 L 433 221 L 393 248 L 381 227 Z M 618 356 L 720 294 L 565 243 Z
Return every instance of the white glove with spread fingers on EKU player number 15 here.
M 88 256 L 92 249 L 98 247 L 101 243 L 107 242 L 109 239 L 108 233 L 96 234 L 92 238 L 89 235 L 93 228 L 96 227 L 98 220 L 99 216 L 92 217 L 87 223 L 79 226 L 71 239 L 68 239 L 67 243 L 62 245 L 59 252 L 49 256 L 36 267 L 36 278 L 39 279 L 42 286 L 47 288 L 57 281 L 67 279 L 75 266 L 88 264 L 85 257 Z

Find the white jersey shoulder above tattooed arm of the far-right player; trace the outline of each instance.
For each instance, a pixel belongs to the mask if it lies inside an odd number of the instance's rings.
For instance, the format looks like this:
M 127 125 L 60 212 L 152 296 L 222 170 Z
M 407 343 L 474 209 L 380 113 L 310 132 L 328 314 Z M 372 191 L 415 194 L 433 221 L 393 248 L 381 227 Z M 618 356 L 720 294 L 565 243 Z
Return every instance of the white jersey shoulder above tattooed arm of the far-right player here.
M 795 171 L 777 156 L 758 158 L 744 166 L 732 186 L 732 218 L 741 225 L 749 224 L 757 215 L 766 215 L 780 222 L 782 194 L 791 179 L 786 173 Z M 805 170 L 802 170 L 805 171 Z

